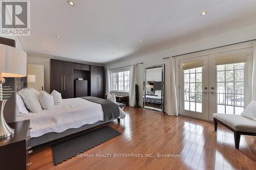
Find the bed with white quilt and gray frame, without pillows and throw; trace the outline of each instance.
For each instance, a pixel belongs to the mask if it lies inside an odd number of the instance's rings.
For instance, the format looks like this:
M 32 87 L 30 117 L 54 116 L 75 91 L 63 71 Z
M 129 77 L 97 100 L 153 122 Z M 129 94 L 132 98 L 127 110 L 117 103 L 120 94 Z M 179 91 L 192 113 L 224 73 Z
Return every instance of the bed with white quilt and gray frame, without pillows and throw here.
M 115 119 L 124 118 L 124 111 L 119 108 L 120 116 L 105 120 L 102 106 L 81 98 L 63 99 L 50 110 L 17 116 L 17 121 L 30 119 L 31 147 L 60 139 Z

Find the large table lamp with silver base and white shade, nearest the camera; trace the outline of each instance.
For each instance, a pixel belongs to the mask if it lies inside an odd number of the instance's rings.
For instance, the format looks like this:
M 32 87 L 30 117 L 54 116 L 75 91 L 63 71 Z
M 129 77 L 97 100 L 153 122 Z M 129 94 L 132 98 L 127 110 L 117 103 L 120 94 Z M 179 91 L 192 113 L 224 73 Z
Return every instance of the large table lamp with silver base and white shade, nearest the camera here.
M 14 129 L 5 122 L 4 107 L 11 97 L 10 86 L 3 86 L 5 78 L 26 77 L 27 53 L 18 48 L 0 44 L 0 139 L 14 134 Z

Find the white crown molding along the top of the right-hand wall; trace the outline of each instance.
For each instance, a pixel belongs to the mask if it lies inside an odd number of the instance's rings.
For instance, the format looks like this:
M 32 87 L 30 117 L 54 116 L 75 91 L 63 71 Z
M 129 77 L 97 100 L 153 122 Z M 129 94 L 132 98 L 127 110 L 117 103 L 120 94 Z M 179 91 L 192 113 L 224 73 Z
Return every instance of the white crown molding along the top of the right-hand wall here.
M 245 20 L 240 20 L 240 21 L 229 23 L 228 25 L 224 25 L 222 27 L 207 30 L 203 33 L 196 34 L 196 35 L 190 36 L 188 38 L 175 40 L 173 43 L 170 43 L 168 45 L 158 46 L 158 47 L 156 47 L 154 49 L 151 49 L 151 50 L 147 50 L 147 51 L 140 52 L 140 53 L 134 53 L 132 55 L 123 56 L 120 59 L 105 62 L 103 64 L 105 66 L 110 66 L 110 65 L 120 63 L 120 62 L 123 62 L 123 61 L 131 60 L 133 58 L 142 57 L 144 55 L 148 55 L 148 54 L 151 54 L 151 53 L 163 51 L 163 50 L 166 50 L 168 48 L 172 48 L 172 47 L 175 47 L 175 46 L 178 46 L 178 45 L 182 45 L 182 44 L 185 44 L 185 43 L 197 41 L 197 40 L 200 40 L 200 39 L 203 39 L 203 38 L 218 35 L 218 34 L 221 34 L 221 33 L 225 33 L 225 32 L 228 32 L 228 31 L 232 31 L 232 30 L 235 30 L 235 29 L 243 28 L 245 26 L 250 26 L 250 25 L 254 25 L 254 24 L 256 24 L 256 17 L 247 18 Z

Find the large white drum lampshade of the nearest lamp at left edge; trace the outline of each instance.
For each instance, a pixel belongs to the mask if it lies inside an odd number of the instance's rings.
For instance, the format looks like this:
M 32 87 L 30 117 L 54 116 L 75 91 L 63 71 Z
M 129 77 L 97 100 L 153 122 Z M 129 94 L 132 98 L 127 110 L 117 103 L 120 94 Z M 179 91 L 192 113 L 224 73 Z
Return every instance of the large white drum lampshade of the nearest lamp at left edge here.
M 0 44 L 0 75 L 2 77 L 26 77 L 27 53 L 18 48 Z

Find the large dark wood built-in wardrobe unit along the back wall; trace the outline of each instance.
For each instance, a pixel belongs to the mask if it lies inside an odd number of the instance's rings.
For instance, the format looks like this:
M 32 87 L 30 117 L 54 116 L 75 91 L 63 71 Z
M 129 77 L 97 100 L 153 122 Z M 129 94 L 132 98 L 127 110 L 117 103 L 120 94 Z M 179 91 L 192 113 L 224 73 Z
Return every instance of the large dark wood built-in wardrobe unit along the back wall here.
M 80 88 L 78 78 L 87 80 L 83 84 L 87 87 Z M 104 67 L 51 59 L 50 90 L 60 92 L 62 99 L 76 98 L 78 93 L 103 98 Z

